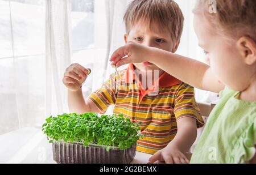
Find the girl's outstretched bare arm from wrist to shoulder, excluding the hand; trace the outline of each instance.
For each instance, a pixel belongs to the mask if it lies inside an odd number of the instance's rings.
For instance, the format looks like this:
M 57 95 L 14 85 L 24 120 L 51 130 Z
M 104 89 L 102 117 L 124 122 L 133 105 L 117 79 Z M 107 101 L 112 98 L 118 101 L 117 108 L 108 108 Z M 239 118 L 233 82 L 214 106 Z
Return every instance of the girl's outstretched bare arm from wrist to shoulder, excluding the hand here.
M 160 49 L 152 49 L 151 52 L 152 63 L 184 83 L 217 93 L 224 89 L 224 85 L 205 63 Z

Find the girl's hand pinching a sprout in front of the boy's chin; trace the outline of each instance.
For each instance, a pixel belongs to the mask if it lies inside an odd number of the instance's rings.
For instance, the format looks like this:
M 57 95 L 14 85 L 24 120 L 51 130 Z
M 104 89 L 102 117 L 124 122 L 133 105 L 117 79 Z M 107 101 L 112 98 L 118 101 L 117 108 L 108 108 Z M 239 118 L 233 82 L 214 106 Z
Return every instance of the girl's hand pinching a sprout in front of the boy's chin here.
M 120 67 L 129 63 L 141 63 L 144 61 L 149 61 L 146 58 L 150 53 L 150 48 L 137 44 L 135 42 L 127 42 L 125 46 L 118 48 L 112 54 L 110 61 L 112 66 Z

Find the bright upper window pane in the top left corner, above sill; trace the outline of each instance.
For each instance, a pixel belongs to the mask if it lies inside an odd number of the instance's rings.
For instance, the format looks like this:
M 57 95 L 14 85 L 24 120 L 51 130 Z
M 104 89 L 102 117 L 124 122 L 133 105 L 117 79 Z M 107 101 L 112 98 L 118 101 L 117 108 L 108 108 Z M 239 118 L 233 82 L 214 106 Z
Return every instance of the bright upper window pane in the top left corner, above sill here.
M 44 0 L 0 1 L 0 58 L 45 53 L 45 11 Z

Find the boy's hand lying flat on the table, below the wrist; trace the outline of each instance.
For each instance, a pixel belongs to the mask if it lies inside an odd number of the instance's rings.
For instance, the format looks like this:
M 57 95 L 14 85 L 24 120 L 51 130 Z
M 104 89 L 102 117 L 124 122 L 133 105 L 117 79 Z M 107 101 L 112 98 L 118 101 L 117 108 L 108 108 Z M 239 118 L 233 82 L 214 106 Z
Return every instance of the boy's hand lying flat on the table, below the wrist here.
M 159 150 L 148 160 L 149 164 L 154 164 L 156 161 L 162 161 L 166 164 L 189 164 L 189 160 L 177 147 L 168 145 Z

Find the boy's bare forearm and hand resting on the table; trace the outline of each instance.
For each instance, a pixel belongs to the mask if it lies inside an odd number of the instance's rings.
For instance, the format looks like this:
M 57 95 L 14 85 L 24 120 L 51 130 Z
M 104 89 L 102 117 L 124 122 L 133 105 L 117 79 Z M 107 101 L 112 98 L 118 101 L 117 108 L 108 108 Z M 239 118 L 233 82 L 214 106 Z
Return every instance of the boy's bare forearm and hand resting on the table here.
M 148 163 L 165 161 L 167 164 L 189 163 L 185 154 L 196 140 L 196 119 L 190 117 L 180 118 L 177 121 L 177 134 L 168 146 L 150 157 Z

